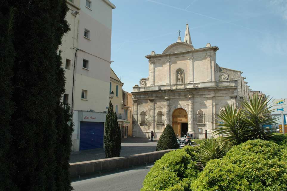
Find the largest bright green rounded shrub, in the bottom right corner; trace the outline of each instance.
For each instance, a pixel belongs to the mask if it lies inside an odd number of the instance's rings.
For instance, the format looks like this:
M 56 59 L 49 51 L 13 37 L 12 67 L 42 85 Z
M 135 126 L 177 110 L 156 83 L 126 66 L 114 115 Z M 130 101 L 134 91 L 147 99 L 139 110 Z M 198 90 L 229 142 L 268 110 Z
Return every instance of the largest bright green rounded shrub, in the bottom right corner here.
M 286 190 L 287 152 L 271 141 L 254 140 L 232 147 L 207 163 L 192 190 Z

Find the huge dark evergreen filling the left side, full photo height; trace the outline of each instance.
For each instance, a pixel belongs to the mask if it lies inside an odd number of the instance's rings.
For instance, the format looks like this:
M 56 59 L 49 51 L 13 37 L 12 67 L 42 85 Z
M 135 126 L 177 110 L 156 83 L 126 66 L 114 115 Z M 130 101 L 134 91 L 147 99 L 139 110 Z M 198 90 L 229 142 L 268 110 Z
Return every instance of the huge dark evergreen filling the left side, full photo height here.
M 2 26 L 13 21 L 7 20 L 10 7 L 15 9 L 15 22 L 13 33 L 7 35 L 2 29 L 9 31 L 9 27 Z M 5 172 L 9 166 L 11 172 L 9 177 L 1 172 L 0 190 L 72 189 L 68 172 L 72 127 L 67 124 L 69 107 L 60 104 L 65 77 L 57 53 L 62 36 L 69 30 L 67 11 L 65 0 L 1 1 L 0 71 L 5 59 L 8 67 L 0 79 L 5 83 L 0 137 L 8 144 L 0 148 L 0 158 L 4 158 L 1 170 Z M 3 95 L 1 84 L 1 98 Z

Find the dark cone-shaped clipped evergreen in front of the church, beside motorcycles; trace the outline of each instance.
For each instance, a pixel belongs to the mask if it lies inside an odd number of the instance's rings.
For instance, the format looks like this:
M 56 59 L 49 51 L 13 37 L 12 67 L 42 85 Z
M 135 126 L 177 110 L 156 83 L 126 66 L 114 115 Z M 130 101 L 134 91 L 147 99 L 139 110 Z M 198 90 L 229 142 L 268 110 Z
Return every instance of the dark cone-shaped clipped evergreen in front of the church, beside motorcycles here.
M 179 144 L 173 128 L 168 124 L 160 135 L 159 141 L 156 145 L 156 150 L 177 149 Z

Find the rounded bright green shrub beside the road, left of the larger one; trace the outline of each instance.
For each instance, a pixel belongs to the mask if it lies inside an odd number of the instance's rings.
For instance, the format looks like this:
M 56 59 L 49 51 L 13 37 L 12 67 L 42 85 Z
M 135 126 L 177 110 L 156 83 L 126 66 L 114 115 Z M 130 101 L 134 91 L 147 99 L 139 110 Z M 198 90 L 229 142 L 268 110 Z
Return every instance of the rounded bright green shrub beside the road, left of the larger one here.
M 176 190 L 180 187 L 179 185 L 185 185 L 183 189 L 186 190 L 190 186 L 189 180 L 197 177 L 199 172 L 196 162 L 192 160 L 194 158 L 196 158 L 194 149 L 188 146 L 166 153 L 155 162 L 151 171 L 146 175 L 141 191 Z

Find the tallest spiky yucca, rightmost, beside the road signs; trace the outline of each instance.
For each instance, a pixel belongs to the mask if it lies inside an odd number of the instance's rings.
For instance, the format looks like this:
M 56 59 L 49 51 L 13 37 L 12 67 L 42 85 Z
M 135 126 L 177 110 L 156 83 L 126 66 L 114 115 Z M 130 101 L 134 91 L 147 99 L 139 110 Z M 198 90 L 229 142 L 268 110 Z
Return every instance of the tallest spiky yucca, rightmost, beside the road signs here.
M 253 94 L 249 96 L 249 102 L 244 98 L 241 101 L 244 117 L 240 120 L 246 125 L 245 135 L 246 139 L 263 139 L 269 140 L 273 134 L 269 127 L 263 127 L 264 124 L 274 124 L 276 118 L 272 118 L 269 114 L 271 113 L 271 99 L 269 96 L 263 99 L 263 96 Z

